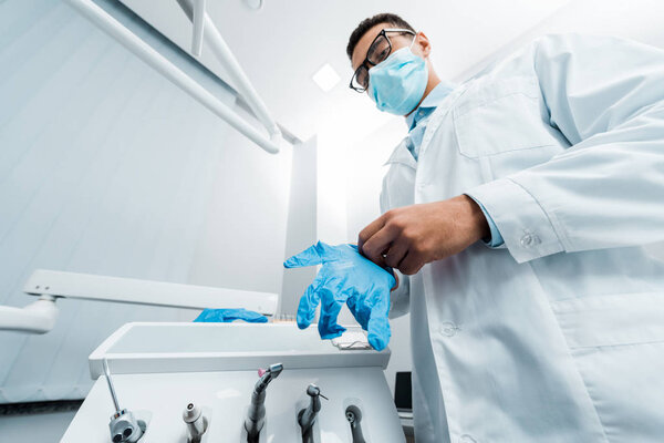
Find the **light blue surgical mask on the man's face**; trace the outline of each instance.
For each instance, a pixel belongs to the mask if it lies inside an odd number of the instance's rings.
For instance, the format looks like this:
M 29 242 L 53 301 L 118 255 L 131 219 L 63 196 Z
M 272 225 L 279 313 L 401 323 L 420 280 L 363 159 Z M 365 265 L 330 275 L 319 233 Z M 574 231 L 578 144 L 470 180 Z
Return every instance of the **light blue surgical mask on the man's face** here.
M 427 82 L 424 59 L 414 54 L 409 47 L 402 48 L 369 70 L 369 95 L 378 110 L 406 115 L 422 100 Z

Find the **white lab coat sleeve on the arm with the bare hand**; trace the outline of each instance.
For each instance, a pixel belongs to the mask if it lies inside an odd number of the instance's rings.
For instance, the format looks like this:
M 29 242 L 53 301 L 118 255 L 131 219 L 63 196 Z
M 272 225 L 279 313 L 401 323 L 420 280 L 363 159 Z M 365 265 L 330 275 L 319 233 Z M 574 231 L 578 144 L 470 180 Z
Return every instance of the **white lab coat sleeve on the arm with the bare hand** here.
M 664 51 L 611 38 L 533 45 L 550 124 L 572 146 L 468 194 L 518 262 L 664 240 Z

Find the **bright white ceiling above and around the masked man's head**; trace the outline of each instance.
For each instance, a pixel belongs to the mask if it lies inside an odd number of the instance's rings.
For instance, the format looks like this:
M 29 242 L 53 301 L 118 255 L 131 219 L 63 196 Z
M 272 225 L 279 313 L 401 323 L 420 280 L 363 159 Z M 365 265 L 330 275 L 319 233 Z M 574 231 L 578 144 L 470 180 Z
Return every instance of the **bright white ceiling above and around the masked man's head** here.
M 189 51 L 191 25 L 175 0 L 121 0 Z M 207 0 L 207 10 L 276 119 L 305 140 L 330 131 L 361 138 L 388 121 L 365 94 L 347 87 L 347 38 L 364 18 L 395 12 L 433 43 L 439 74 L 457 79 L 492 52 L 552 14 L 569 0 L 264 0 L 259 11 L 243 0 Z M 226 80 L 205 50 L 200 61 Z M 330 63 L 342 81 L 322 92 L 312 75 Z

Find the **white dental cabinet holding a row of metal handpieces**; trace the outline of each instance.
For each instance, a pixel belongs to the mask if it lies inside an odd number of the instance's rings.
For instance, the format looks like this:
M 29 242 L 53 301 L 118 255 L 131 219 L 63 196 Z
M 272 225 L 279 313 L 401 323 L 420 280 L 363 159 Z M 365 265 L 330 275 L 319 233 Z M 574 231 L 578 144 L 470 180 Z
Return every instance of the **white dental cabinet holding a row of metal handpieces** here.
M 96 382 L 61 442 L 405 442 L 383 373 L 390 350 L 340 348 L 314 327 L 292 323 L 127 323 L 90 356 Z M 143 431 L 138 440 L 122 429 L 111 432 L 116 409 L 104 361 L 120 409 Z M 277 365 L 252 439 L 246 422 L 258 371 Z M 320 392 L 315 413 L 312 390 Z M 198 429 L 187 416 L 198 418 Z

